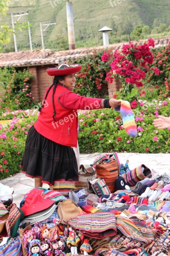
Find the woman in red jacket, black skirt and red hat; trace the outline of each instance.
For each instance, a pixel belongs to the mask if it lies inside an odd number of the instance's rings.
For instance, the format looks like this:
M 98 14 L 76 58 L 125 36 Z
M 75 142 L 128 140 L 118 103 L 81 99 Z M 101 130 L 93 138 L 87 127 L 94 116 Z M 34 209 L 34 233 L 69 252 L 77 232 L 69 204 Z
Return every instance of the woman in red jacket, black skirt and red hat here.
M 77 160 L 72 147 L 77 147 L 77 109 L 92 110 L 116 108 L 121 102 L 116 99 L 97 99 L 73 93 L 81 65 L 48 68 L 54 76 L 47 88 L 40 115 L 28 132 L 26 148 L 21 162 L 22 172 L 35 178 L 35 188 L 54 181 L 78 182 Z

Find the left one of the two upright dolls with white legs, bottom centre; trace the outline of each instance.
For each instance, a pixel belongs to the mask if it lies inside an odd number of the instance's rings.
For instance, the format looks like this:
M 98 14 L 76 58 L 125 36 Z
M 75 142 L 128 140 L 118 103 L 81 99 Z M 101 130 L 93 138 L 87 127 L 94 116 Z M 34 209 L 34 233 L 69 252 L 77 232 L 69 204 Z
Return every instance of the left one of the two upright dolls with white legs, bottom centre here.
M 71 249 L 71 254 L 77 254 L 77 244 L 80 241 L 79 236 L 76 235 L 76 232 L 72 229 L 72 227 L 69 227 L 68 230 L 69 233 L 67 245 Z

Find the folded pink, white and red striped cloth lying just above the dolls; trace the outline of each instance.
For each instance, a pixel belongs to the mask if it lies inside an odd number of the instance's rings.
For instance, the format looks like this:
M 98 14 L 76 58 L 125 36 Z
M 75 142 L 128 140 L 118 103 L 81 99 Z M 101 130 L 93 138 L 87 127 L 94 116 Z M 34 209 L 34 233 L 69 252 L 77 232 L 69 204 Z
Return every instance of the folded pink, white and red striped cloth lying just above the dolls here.
M 96 212 L 93 214 L 82 214 L 77 218 L 67 221 L 76 231 L 84 236 L 103 239 L 116 235 L 116 218 L 111 212 Z

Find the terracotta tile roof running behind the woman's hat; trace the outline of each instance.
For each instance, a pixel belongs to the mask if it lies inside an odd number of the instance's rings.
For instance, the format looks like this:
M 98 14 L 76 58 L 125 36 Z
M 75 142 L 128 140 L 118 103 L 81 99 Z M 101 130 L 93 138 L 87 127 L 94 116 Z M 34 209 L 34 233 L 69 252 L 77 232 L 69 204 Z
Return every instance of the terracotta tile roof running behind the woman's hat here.
M 135 41 L 136 43 L 142 43 L 145 40 Z M 156 38 L 155 47 L 164 46 L 170 41 L 169 37 Z M 78 48 L 75 50 L 52 52 L 50 49 L 45 50 L 34 50 L 34 51 L 20 51 L 20 52 L 8 52 L 0 53 L 0 67 L 13 66 L 13 67 L 27 67 L 37 65 L 49 65 L 59 64 L 61 62 L 67 62 L 68 59 L 75 60 L 79 57 L 92 54 L 94 49 L 106 49 L 112 48 L 122 49 L 123 44 L 110 44 L 108 46 L 89 47 L 89 48 Z M 87 53 L 88 52 L 88 53 Z

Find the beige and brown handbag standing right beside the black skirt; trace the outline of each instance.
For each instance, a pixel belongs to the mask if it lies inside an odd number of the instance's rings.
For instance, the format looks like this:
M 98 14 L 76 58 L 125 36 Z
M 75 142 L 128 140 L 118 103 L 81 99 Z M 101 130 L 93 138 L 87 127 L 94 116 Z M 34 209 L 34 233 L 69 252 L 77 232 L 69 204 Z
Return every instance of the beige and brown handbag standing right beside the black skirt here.
M 80 168 L 79 168 L 79 181 L 76 184 L 76 187 L 77 188 L 84 187 L 85 190 L 87 190 L 89 193 L 93 193 L 90 180 L 95 180 L 95 179 L 96 179 L 96 171 L 94 170 L 94 168 L 91 166 L 85 167 L 82 164 L 80 165 Z

